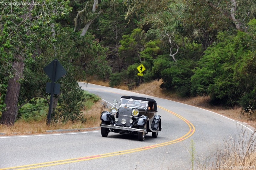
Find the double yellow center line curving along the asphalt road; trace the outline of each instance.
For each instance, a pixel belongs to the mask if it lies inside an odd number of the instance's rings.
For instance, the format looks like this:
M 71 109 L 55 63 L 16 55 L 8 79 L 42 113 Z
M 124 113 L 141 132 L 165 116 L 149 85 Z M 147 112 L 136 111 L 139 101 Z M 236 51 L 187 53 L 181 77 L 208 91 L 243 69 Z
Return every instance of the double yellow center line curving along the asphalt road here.
M 170 144 L 173 144 L 173 143 L 177 143 L 177 142 L 180 142 L 180 141 L 183 141 L 183 140 L 187 139 L 188 137 L 190 137 L 191 135 L 193 135 L 195 133 L 195 127 L 194 127 L 194 125 L 190 121 L 188 121 L 187 119 L 183 118 L 179 114 L 174 113 L 174 112 L 172 112 L 170 110 L 167 110 L 167 109 L 165 109 L 165 108 L 163 108 L 163 107 L 161 107 L 159 105 L 157 107 L 160 108 L 160 109 L 163 109 L 166 112 L 169 112 L 169 113 L 177 116 L 178 118 L 180 118 L 181 120 L 186 122 L 186 124 L 189 127 L 189 131 L 185 135 L 181 136 L 178 139 L 174 139 L 172 141 L 168 141 L 168 142 L 164 142 L 164 143 L 158 143 L 158 144 L 155 144 L 155 145 L 150 145 L 150 146 L 145 146 L 145 147 L 125 150 L 125 151 L 117 151 L 117 152 L 111 152 L 111 153 L 105 153 L 105 154 L 99 154 L 99 155 L 86 156 L 86 157 L 81 157 L 81 158 L 71 158 L 71 159 L 64 159 L 64 160 L 58 160 L 58 161 L 52 161 L 52 162 L 44 162 L 44 163 L 31 164 L 31 165 L 2 168 L 0 170 L 5 170 L 5 169 L 19 169 L 19 170 L 34 169 L 34 168 L 40 168 L 40 167 L 46 167 L 46 166 L 56 166 L 56 165 L 80 162 L 80 161 L 91 160 L 91 159 L 98 159 L 98 158 L 105 158 L 105 157 L 110 157 L 110 156 L 123 155 L 123 154 L 128 154 L 128 153 L 138 152 L 138 151 L 144 151 L 144 150 L 148 150 L 148 149 L 153 149 L 153 148 L 157 148 L 157 147 L 161 147 L 161 146 L 166 146 L 166 145 L 170 145 Z

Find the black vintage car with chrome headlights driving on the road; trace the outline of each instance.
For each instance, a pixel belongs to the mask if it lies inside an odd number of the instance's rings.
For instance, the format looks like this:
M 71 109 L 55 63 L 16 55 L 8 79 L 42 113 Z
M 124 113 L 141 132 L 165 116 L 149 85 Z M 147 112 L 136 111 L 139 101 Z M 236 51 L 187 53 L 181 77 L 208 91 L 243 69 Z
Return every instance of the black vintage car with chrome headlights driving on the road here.
M 154 99 L 136 96 L 122 96 L 119 108 L 117 100 L 113 101 L 110 112 L 101 113 L 101 135 L 107 137 L 109 132 L 138 135 L 144 141 L 146 134 L 152 132 L 157 137 L 162 129 L 161 116 L 157 115 L 157 103 Z

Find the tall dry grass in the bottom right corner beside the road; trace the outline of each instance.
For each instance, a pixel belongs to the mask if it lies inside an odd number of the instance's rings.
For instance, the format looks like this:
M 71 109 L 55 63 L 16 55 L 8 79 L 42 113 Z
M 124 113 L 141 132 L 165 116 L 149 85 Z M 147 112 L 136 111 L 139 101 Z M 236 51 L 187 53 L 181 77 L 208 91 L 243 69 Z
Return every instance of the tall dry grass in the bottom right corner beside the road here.
M 255 132 L 242 128 L 234 138 L 225 139 L 214 154 L 197 159 L 198 169 L 256 169 L 255 139 Z

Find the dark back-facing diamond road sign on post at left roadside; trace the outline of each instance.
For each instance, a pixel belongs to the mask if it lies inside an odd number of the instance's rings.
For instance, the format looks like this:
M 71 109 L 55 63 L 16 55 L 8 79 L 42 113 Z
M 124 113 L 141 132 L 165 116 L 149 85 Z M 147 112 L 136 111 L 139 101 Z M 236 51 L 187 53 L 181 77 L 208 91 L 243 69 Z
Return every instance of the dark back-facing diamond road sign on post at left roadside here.
M 52 98 L 53 94 L 60 94 L 60 84 L 54 83 L 59 80 L 60 77 L 65 75 L 67 72 L 61 66 L 60 62 L 57 59 L 54 59 L 50 64 L 44 67 L 44 72 L 48 75 L 52 82 L 46 83 L 46 93 L 51 93 L 49 110 L 47 114 L 46 124 L 49 126 L 51 122 L 51 114 L 52 114 Z

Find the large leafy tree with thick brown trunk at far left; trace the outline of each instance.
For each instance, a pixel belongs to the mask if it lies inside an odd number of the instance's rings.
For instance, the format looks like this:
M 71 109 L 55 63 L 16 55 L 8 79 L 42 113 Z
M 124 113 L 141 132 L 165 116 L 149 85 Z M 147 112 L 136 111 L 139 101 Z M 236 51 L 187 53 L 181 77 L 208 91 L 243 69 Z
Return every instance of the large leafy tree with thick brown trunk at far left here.
M 35 60 L 40 55 L 42 47 L 49 43 L 51 24 L 71 10 L 68 1 L 37 3 L 40 5 L 6 5 L 1 14 L 0 48 L 4 51 L 4 65 L 10 77 L 1 124 L 13 125 L 17 117 L 26 58 Z

